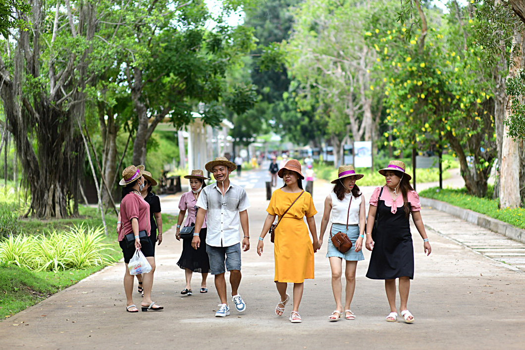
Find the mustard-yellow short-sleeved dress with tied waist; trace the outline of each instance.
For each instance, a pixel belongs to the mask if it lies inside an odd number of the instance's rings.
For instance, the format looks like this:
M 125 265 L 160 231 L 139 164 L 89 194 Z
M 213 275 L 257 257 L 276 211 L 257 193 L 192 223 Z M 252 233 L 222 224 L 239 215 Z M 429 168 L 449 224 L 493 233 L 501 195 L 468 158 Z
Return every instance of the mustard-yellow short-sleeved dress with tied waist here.
M 280 218 L 299 194 L 276 189 L 266 211 Z M 305 279 L 313 279 L 313 247 L 303 218 L 316 214 L 312 196 L 304 192 L 282 218 L 275 230 L 274 281 L 302 283 Z

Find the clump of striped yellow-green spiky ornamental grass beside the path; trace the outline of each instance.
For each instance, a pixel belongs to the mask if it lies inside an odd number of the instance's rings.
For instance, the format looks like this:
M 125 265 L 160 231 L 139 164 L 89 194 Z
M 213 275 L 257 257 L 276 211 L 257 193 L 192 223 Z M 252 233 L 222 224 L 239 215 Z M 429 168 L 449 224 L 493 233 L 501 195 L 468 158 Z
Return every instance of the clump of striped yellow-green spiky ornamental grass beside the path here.
M 84 224 L 46 235 L 10 235 L 0 241 L 0 262 L 37 271 L 87 269 L 115 262 L 103 243 L 103 228 Z

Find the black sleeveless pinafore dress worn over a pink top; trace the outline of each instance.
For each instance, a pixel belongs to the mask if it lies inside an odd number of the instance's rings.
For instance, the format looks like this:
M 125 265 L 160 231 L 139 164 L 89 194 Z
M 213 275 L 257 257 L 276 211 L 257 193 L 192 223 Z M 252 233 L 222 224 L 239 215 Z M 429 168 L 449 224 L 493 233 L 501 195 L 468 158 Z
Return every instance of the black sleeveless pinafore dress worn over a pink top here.
M 408 203 L 408 205 L 410 205 Z M 377 205 L 377 230 L 372 236 L 374 249 L 366 277 L 374 280 L 393 280 L 400 277 L 414 278 L 414 246 L 409 218 L 403 207 L 395 214 L 379 200 Z

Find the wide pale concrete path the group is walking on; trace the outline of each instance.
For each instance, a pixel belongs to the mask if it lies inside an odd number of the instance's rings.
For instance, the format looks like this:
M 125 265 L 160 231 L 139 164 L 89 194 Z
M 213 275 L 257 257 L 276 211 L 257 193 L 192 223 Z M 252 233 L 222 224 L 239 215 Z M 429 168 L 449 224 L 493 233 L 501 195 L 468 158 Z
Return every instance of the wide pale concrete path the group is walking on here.
M 322 183 L 314 186 L 318 227 L 330 188 Z M 369 198 L 373 187 L 362 190 Z M 125 312 L 124 264 L 118 263 L 0 322 L 0 348 L 523 348 L 525 273 L 489 258 L 490 253 L 477 252 L 481 246 L 493 246 L 495 240 L 501 240 L 499 235 L 483 231 L 481 237 L 477 226 L 430 208 L 422 211 L 433 248 L 429 257 L 412 228 L 415 278 L 408 306 L 415 316 L 414 324 L 385 322 L 389 310 L 383 283 L 365 278 L 370 260 L 366 250 L 365 260 L 358 264 L 351 307 L 356 320 L 330 323 L 328 316 L 335 305 L 330 267 L 324 257 L 326 242 L 316 253 L 316 278 L 305 282 L 300 307 L 303 323 L 291 324 L 288 317 L 275 316 L 278 294 L 272 281 L 274 258 L 268 238 L 263 256 L 255 252 L 268 202 L 264 189 L 247 191 L 252 204 L 248 212 L 253 246 L 242 256 L 239 291 L 247 303 L 244 313 L 233 311 L 225 319 L 214 317 L 218 297 L 213 278 L 208 280 L 207 294 L 181 297 L 184 273 L 176 261 L 182 244 L 171 230 L 157 250 L 153 288 L 153 299 L 165 307 L 164 311 Z M 176 213 L 177 198 L 164 197 L 163 210 Z M 195 274 L 194 291 L 199 284 L 200 277 Z M 139 304 L 139 294 L 134 295 Z M 288 306 L 285 315 L 290 310 Z

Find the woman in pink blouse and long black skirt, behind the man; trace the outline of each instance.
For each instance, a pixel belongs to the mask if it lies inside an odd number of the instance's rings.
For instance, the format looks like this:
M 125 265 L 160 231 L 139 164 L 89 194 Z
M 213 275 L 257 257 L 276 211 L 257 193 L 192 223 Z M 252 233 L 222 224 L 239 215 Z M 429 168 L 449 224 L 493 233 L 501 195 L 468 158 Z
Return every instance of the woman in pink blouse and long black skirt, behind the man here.
M 181 240 L 181 225 L 184 221 L 184 216 L 186 211 L 188 212 L 188 218 L 184 224 L 184 227 L 195 226 L 195 218 L 197 215 L 197 199 L 202 192 L 202 189 L 206 187 L 204 180 L 208 180 L 204 176 L 204 173 L 201 169 L 192 170 L 191 175 L 186 175 L 184 178 L 190 179 L 190 190 L 182 195 L 181 200 L 178 202 L 178 208 L 181 211 L 178 212 L 177 219 L 177 231 L 175 238 Z M 181 292 L 182 295 L 192 295 L 192 274 L 193 272 L 202 273 L 202 282 L 201 282 L 201 293 L 207 293 L 208 289 L 206 288 L 206 278 L 209 273 L 209 259 L 208 254 L 206 253 L 206 216 L 204 217 L 204 222 L 199 231 L 199 239 L 201 240 L 201 246 L 196 250 L 192 247 L 192 239 L 184 238 L 182 240 L 182 254 L 181 258 L 178 259 L 177 265 L 185 270 L 186 275 L 186 288 Z

